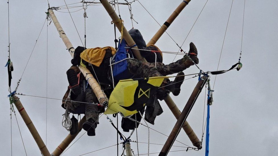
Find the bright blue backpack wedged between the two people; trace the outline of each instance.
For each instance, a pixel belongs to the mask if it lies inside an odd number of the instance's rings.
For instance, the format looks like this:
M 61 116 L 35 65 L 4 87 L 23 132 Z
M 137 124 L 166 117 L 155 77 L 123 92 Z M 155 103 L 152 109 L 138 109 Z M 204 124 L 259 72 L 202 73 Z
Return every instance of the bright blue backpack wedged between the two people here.
M 119 41 L 118 50 L 113 60 L 114 63 L 121 61 L 113 65 L 113 77 L 115 83 L 119 80 L 129 79 L 133 76 L 133 74 L 128 71 L 127 60 L 122 61 L 123 59 L 128 58 L 127 55 L 129 55 L 125 47 L 126 41 L 122 39 L 122 42 Z

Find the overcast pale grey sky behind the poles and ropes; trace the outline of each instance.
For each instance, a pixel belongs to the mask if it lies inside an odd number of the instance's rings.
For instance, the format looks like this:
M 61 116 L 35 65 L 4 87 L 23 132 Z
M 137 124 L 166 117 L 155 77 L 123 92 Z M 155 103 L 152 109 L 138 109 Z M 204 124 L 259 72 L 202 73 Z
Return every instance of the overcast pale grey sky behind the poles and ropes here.
M 79 0 L 80 1 L 80 0 Z M 67 4 L 77 3 L 78 0 L 67 0 Z M 193 23 L 198 17 L 201 9 L 207 0 L 193 0 L 176 18 L 167 32 L 179 44 L 189 33 Z M 174 9 L 181 3 L 175 1 L 146 1 L 140 0 L 142 5 L 163 24 Z M 50 7 L 65 5 L 64 1 L 49 0 Z M 195 43 L 198 49 L 199 67 L 204 71 L 214 71 L 217 69 L 220 51 L 226 30 L 229 11 L 232 0 L 209 0 L 202 14 L 191 30 L 182 48 L 189 50 L 189 43 Z M 38 34 L 42 28 L 47 11 L 47 1 L 10 1 L 10 43 L 11 61 L 13 61 L 14 71 L 12 73 L 12 91 L 15 89 L 18 79 L 21 77 L 24 67 L 32 52 Z M 81 6 L 81 3 L 74 6 Z M 8 74 L 4 67 L 8 59 L 8 5 L 7 0 L 0 2 L 1 6 L 1 128 L 0 128 L 0 155 L 11 155 L 11 120 L 10 105 L 7 98 Z M 244 0 L 234 1 L 232 12 L 226 33 L 219 70 L 226 70 L 238 62 L 241 38 L 242 38 L 242 17 Z M 242 44 L 242 64 L 240 71 L 232 70 L 216 78 L 213 99 L 214 103 L 210 107 L 210 155 L 278 155 L 278 122 L 277 122 L 277 49 L 278 49 L 278 1 L 276 0 L 246 0 L 244 32 Z M 70 9 L 77 11 L 81 8 Z M 68 12 L 67 9 L 58 10 Z M 82 45 L 77 31 L 68 13 L 54 11 L 64 31 L 68 35 L 74 47 Z M 87 47 L 115 46 L 114 27 L 111 25 L 111 18 L 102 6 L 90 6 L 86 10 Z M 77 30 L 83 41 L 84 18 L 83 9 L 71 13 L 77 26 Z M 118 11 L 117 11 L 118 13 Z M 134 24 L 134 28 L 139 29 L 148 42 L 159 25 L 135 1 L 132 3 L 132 13 L 134 19 L 139 23 Z M 120 14 L 124 20 L 124 25 L 129 30 L 132 28 L 130 14 L 127 6 L 120 6 Z M 49 23 L 49 22 L 48 22 Z M 50 98 L 62 99 L 68 81 L 66 70 L 71 66 L 71 57 L 66 47 L 60 39 L 53 23 L 48 26 L 48 55 L 47 55 L 47 26 L 45 25 L 40 38 L 37 41 L 34 52 L 30 58 L 27 68 L 23 74 L 18 93 L 35 96 L 47 96 Z M 117 31 L 117 37 L 120 33 Z M 162 51 L 178 51 L 173 40 L 164 34 L 156 44 Z M 163 63 L 171 63 L 175 55 L 163 54 Z M 177 56 L 180 59 L 182 56 Z M 47 58 L 47 59 L 46 59 Z M 48 64 L 48 66 L 46 66 Z M 47 71 L 47 72 L 46 72 Z M 192 66 L 184 71 L 185 74 L 197 73 L 199 70 Z M 187 78 L 187 77 L 186 77 Z M 189 78 L 189 77 L 188 77 Z M 180 110 L 183 109 L 193 88 L 197 84 L 198 78 L 189 79 L 182 85 L 179 96 L 171 97 Z M 211 76 L 213 86 L 214 76 Z M 47 89 L 46 89 L 47 86 Z M 62 127 L 62 114 L 60 100 L 47 100 L 18 95 L 25 107 L 28 115 L 36 126 L 40 136 L 47 143 L 50 153 L 68 135 Z M 187 121 L 201 140 L 203 124 L 203 108 L 205 102 L 205 89 L 201 92 Z M 160 102 L 164 113 L 155 120 L 155 125 L 151 128 L 169 135 L 176 119 L 168 109 L 164 101 Z M 206 110 L 205 110 L 206 112 Z M 25 143 L 27 155 L 40 155 L 40 151 L 33 140 L 28 128 L 24 124 L 21 116 L 16 110 L 17 120 Z M 113 122 L 116 119 L 112 116 Z M 47 121 L 47 124 L 46 124 Z M 97 149 L 116 144 L 116 130 L 109 123 L 105 116 L 100 118 L 100 124 L 96 129 L 96 136 L 89 137 L 83 135 L 71 148 L 63 155 L 81 155 Z M 142 120 L 142 122 L 144 122 Z M 120 126 L 120 122 L 119 122 Z M 47 127 L 47 128 L 46 128 Z M 47 130 L 46 130 L 47 129 Z M 120 129 L 121 130 L 121 129 Z M 122 131 L 122 130 L 121 130 Z M 77 136 L 81 136 L 82 130 Z M 47 134 L 47 135 L 46 135 Z M 130 133 L 123 132 L 125 136 Z M 138 141 L 148 142 L 148 129 L 144 126 L 138 128 Z M 134 133 L 131 140 L 136 140 Z M 150 143 L 164 144 L 167 137 L 150 130 Z M 177 140 L 189 146 L 193 146 L 185 132 L 181 130 Z M 121 140 L 120 140 L 121 142 Z M 203 149 L 200 151 L 179 151 L 171 152 L 169 155 L 205 155 L 205 137 Z M 15 116 L 12 115 L 12 143 L 13 155 L 25 155 L 23 144 Z M 175 142 L 174 145 L 184 146 Z M 137 154 L 136 143 L 131 143 L 131 147 Z M 150 145 L 150 153 L 160 152 L 162 145 Z M 171 151 L 184 150 L 184 147 L 172 147 Z M 88 155 L 116 155 L 116 146 Z M 119 146 L 119 152 L 122 149 Z M 147 153 L 147 145 L 139 143 L 139 154 Z M 158 154 L 155 154 L 158 155 Z

